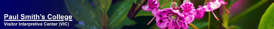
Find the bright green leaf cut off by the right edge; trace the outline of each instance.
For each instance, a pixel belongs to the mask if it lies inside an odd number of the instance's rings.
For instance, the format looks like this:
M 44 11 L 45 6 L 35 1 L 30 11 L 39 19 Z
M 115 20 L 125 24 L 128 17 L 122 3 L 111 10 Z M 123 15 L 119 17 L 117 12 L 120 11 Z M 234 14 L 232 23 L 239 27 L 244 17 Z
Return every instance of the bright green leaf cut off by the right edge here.
M 263 14 L 258 29 L 274 29 L 274 3 Z

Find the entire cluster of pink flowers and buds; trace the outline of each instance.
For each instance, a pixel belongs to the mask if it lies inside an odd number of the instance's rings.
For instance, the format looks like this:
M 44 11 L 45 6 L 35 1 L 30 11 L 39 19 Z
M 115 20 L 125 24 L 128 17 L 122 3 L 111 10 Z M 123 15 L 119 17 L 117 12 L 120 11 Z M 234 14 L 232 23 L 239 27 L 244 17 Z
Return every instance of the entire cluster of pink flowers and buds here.
M 170 8 L 158 9 L 158 0 L 148 0 L 148 5 L 144 5 L 142 9 L 144 11 L 152 11 L 154 18 L 156 17 L 156 25 L 161 29 L 187 29 L 189 27 L 188 24 L 193 22 L 195 18 L 201 19 L 205 12 L 213 11 L 221 5 L 227 4 L 223 0 L 211 0 L 208 3 L 207 5 L 199 6 L 196 10 L 194 9 L 194 4 L 189 0 L 184 0 L 179 7 L 173 0 Z

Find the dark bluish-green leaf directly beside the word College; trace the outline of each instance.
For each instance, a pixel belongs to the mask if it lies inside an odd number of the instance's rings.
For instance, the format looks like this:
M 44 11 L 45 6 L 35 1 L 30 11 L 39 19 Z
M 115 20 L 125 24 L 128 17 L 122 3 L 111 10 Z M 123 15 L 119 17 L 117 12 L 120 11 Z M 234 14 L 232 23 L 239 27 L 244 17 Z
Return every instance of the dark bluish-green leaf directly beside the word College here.
M 93 7 L 87 0 L 64 0 L 69 13 L 77 21 L 84 21 L 87 26 L 100 26 L 100 10 Z

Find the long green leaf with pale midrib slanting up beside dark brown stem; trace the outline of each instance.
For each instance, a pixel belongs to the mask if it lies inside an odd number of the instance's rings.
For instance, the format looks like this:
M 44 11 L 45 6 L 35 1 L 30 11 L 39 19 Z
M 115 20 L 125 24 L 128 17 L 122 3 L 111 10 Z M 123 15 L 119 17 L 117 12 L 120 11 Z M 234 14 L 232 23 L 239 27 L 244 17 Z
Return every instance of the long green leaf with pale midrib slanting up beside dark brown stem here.
M 125 0 L 120 7 L 114 11 L 114 14 L 110 18 L 110 28 L 118 26 L 125 18 L 127 18 L 127 14 L 132 6 L 132 3 L 134 3 L 134 0 Z

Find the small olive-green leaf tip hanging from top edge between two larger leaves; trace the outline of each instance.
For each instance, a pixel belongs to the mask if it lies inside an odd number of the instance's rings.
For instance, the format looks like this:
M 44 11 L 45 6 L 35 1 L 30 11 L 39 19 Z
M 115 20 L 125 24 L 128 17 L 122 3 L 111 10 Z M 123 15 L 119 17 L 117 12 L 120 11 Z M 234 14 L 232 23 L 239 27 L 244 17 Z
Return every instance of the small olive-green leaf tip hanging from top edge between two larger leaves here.
M 112 3 L 112 0 L 93 0 L 93 1 L 96 8 L 101 10 L 103 15 L 108 12 L 108 9 L 110 8 L 110 5 Z

